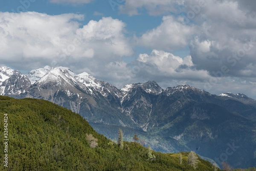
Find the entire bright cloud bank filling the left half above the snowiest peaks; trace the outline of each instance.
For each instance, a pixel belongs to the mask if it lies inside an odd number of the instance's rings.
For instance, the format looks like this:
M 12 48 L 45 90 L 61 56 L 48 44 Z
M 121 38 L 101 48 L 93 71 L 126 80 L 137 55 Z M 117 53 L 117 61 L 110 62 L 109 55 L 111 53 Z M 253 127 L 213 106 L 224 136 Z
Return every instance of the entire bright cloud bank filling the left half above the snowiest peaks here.
M 19 70 L 42 65 L 101 70 L 133 53 L 123 33 L 125 23 L 102 17 L 81 27 L 83 19 L 78 14 L 0 13 L 1 62 Z

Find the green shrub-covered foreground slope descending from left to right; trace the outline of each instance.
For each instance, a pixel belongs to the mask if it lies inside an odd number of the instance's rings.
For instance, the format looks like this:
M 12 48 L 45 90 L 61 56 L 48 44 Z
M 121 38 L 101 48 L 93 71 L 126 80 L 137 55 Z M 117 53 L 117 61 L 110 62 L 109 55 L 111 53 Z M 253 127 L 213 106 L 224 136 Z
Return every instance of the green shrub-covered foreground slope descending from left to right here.
M 122 130 L 114 142 L 49 101 L 0 96 L 0 118 L 3 171 L 220 171 L 194 152 L 162 154 L 137 136 L 123 141 Z

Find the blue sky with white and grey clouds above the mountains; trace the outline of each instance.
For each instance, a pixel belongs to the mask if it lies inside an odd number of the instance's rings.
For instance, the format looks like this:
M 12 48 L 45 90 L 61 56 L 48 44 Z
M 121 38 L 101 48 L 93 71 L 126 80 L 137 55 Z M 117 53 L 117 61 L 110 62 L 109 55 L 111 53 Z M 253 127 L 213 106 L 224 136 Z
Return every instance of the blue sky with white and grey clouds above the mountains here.
M 255 0 L 0 0 L 0 66 L 256 99 Z

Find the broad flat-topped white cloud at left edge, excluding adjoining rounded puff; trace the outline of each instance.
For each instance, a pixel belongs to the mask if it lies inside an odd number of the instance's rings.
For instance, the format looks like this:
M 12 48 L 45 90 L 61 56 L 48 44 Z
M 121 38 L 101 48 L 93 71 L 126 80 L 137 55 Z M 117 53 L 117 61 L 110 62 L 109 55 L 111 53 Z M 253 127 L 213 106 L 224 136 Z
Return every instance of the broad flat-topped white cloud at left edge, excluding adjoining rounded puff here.
M 0 58 L 52 58 L 73 38 L 79 27 L 76 20 L 83 15 L 62 14 L 50 16 L 37 12 L 16 14 L 0 13 Z M 56 38 L 60 43 L 53 43 Z

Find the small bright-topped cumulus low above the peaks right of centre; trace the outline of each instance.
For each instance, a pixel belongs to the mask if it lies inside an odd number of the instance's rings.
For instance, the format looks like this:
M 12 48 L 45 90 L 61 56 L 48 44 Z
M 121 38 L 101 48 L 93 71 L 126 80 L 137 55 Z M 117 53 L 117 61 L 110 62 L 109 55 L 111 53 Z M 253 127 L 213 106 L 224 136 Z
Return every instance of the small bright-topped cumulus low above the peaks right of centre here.
M 191 56 L 181 58 L 172 53 L 154 49 L 151 54 L 140 54 L 137 61 L 144 64 L 141 72 L 146 72 L 149 78 L 198 80 L 209 79 L 205 70 L 195 70 Z

